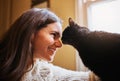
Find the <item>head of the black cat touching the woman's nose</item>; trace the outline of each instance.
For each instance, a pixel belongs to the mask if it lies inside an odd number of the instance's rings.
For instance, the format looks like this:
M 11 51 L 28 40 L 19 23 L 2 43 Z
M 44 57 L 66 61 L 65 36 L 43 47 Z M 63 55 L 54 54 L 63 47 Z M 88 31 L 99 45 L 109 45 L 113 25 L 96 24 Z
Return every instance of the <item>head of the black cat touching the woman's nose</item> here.
M 79 38 L 89 30 L 86 27 L 81 27 L 75 23 L 72 18 L 68 20 L 69 25 L 64 29 L 62 34 L 63 44 L 73 45 L 79 42 Z

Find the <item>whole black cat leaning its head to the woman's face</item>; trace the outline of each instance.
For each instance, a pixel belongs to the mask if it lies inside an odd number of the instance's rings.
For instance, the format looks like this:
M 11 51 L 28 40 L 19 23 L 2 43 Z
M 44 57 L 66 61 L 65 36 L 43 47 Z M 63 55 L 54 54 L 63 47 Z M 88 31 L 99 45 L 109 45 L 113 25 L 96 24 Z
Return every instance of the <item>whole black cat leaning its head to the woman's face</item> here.
M 102 81 L 120 81 L 120 34 L 90 31 L 70 18 L 62 42 L 76 48 L 84 65 Z

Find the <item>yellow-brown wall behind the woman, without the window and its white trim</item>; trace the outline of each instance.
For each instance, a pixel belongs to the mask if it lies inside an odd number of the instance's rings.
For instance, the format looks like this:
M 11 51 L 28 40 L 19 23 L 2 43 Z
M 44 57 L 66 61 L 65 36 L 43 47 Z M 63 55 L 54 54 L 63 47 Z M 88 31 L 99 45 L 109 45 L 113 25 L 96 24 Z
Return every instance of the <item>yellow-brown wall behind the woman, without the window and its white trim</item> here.
M 63 20 L 63 29 L 68 24 L 68 18 L 75 18 L 74 0 L 0 0 L 0 37 L 10 25 L 26 10 L 32 7 L 50 8 Z M 63 46 L 58 50 L 54 64 L 76 70 L 75 50 Z

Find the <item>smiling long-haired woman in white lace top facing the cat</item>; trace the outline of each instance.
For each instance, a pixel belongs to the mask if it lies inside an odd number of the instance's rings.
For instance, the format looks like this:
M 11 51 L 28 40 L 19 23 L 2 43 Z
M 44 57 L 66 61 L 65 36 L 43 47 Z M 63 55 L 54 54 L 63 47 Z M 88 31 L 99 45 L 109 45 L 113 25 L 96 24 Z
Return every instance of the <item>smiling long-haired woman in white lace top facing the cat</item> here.
M 0 41 L 0 81 L 69 81 L 89 78 L 89 73 L 54 66 L 62 46 L 61 20 L 47 9 L 24 12 Z

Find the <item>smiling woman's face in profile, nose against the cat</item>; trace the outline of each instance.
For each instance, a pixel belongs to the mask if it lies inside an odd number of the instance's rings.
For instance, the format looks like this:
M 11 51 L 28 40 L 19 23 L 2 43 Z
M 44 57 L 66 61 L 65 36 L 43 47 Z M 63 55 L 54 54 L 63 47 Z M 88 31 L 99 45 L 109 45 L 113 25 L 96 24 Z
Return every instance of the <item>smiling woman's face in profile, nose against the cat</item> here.
M 40 29 L 32 38 L 34 59 L 53 61 L 57 48 L 62 46 L 61 35 L 62 27 L 59 22 L 48 24 L 47 27 Z

